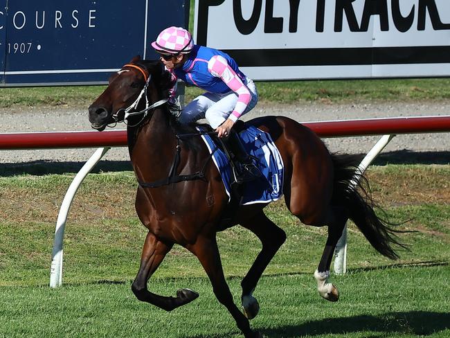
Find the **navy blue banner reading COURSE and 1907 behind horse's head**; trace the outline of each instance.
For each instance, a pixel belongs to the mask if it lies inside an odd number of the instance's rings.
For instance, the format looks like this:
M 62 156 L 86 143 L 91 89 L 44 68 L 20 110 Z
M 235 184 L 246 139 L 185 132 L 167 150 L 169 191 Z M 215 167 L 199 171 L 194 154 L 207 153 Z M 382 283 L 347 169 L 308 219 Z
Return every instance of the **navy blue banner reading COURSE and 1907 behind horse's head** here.
M 0 0 L 0 86 L 102 84 L 168 26 L 189 0 Z

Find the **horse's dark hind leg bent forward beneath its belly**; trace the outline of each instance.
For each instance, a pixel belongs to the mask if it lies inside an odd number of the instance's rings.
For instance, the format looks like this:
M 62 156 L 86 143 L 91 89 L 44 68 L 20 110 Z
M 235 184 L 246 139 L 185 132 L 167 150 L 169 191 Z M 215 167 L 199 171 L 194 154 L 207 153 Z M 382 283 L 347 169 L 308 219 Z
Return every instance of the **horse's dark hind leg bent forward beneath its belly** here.
M 248 319 L 256 317 L 260 310 L 258 301 L 253 297 L 253 290 L 255 290 L 258 281 L 260 280 L 264 269 L 269 265 L 273 256 L 275 256 L 278 249 L 286 240 L 286 233 L 275 223 L 273 223 L 261 211 L 258 215 L 241 222 L 241 225 L 253 232 L 262 243 L 262 250 L 256 257 L 255 262 L 247 272 L 244 279 L 242 279 L 242 308 L 244 314 Z

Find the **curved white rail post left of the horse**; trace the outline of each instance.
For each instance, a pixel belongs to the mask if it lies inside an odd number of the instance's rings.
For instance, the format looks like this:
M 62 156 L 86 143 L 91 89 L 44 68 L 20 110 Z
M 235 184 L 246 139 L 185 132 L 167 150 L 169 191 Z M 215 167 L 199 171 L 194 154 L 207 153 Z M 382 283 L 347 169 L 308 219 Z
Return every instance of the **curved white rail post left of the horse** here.
M 60 213 L 58 213 L 55 229 L 55 240 L 53 240 L 53 250 L 51 253 L 51 267 L 50 267 L 50 287 L 60 287 L 62 285 L 62 242 L 64 240 L 64 228 L 66 226 L 67 214 L 71 208 L 73 197 L 78 188 L 82 184 L 84 177 L 91 172 L 92 168 L 96 166 L 98 161 L 106 154 L 110 148 L 98 148 L 93 153 L 91 158 L 84 163 L 78 174 L 73 179 L 66 195 L 62 200 Z

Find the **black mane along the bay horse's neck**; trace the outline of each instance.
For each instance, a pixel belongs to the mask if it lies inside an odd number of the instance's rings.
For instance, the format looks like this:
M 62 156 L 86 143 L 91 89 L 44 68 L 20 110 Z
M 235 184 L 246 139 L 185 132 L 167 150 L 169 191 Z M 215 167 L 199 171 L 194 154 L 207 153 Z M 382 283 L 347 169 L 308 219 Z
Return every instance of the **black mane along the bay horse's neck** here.
M 170 89 L 173 87 L 172 75 L 169 71 L 164 69 L 164 66 L 159 60 L 138 60 L 135 61 L 134 64 L 136 66 L 141 66 L 143 69 L 146 69 L 149 74 L 152 75 L 152 79 L 156 84 L 156 88 L 160 91 L 161 99 L 169 98 Z M 190 123 L 188 125 L 181 124 L 178 121 L 179 116 L 179 107 L 174 103 L 168 102 L 163 106 L 166 114 L 165 116 L 168 118 L 168 122 L 170 127 L 172 128 L 174 134 L 198 134 L 198 130 L 196 129 L 197 125 L 201 125 L 202 127 L 208 128 L 210 130 L 209 125 L 199 124 L 199 123 Z M 178 113 L 178 114 L 177 114 Z M 199 136 L 186 136 L 181 138 L 181 141 L 184 145 L 192 150 L 199 150 Z

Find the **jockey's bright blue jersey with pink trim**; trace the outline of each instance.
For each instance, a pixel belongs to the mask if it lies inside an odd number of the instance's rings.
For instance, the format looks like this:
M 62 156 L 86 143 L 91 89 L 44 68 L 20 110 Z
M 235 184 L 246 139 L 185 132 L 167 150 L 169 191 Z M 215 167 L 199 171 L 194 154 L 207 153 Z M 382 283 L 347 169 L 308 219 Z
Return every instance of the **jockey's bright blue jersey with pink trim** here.
M 231 73 L 235 73 L 235 76 L 245 83 L 246 76 L 232 57 L 214 48 L 195 45 L 183 66 L 174 69 L 174 75 L 187 84 L 210 93 L 224 94 L 231 91 L 227 84 L 231 79 L 223 76 L 224 68 L 228 67 L 233 70 Z

